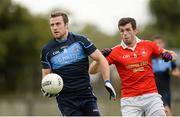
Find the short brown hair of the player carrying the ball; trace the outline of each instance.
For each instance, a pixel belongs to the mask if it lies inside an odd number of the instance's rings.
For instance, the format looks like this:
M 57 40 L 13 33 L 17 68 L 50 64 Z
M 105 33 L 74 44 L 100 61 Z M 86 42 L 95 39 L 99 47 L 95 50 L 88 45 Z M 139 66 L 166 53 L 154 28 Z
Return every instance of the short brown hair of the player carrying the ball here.
M 64 12 L 61 12 L 61 11 L 52 12 L 51 15 L 50 15 L 50 18 L 54 18 L 54 17 L 58 17 L 58 16 L 63 17 L 64 24 L 67 24 L 69 22 L 67 14 L 64 13 Z

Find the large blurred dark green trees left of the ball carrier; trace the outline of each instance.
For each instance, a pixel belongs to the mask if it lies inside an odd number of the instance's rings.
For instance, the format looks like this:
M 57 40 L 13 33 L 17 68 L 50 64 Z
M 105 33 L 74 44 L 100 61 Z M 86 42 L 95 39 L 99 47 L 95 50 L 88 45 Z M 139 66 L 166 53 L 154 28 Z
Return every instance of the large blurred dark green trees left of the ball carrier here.
M 23 92 L 39 83 L 39 51 L 50 37 L 47 22 L 11 0 L 0 1 L 1 92 Z

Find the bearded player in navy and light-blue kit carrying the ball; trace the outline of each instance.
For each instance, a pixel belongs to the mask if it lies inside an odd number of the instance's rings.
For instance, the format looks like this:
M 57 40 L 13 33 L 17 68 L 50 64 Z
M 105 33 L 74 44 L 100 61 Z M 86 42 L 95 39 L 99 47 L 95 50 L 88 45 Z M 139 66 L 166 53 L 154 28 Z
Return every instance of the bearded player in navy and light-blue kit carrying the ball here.
M 56 96 L 62 115 L 99 116 L 96 97 L 90 85 L 88 56 L 100 62 L 103 80 L 109 81 L 106 59 L 87 37 L 68 31 L 68 16 L 65 13 L 53 12 L 50 28 L 54 38 L 42 49 L 42 77 L 53 72 L 63 78 L 63 90 Z M 108 84 L 106 88 L 114 90 Z M 112 94 L 111 90 L 108 91 Z M 44 90 L 42 92 L 45 96 L 54 96 Z

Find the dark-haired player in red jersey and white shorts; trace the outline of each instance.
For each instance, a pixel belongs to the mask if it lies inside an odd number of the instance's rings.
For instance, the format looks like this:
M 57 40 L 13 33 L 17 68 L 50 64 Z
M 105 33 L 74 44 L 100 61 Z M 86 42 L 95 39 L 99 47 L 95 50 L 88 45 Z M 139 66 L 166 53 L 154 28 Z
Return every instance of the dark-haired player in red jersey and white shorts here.
M 123 116 L 166 116 L 161 96 L 157 92 L 152 70 L 152 57 L 175 60 L 176 53 L 157 46 L 154 42 L 136 37 L 138 30 L 133 18 L 122 18 L 118 23 L 121 44 L 104 50 L 109 64 L 114 64 L 121 78 L 121 111 Z M 109 55 L 108 55 L 109 54 Z M 98 62 L 90 66 L 90 73 L 98 71 Z

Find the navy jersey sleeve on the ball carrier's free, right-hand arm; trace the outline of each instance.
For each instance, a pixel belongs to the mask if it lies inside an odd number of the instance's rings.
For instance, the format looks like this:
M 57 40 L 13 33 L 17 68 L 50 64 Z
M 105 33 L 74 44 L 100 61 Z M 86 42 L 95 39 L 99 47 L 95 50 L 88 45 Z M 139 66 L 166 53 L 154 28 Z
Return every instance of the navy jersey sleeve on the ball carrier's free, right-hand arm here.
M 85 50 L 87 55 L 92 54 L 97 48 L 87 37 L 81 36 L 79 42 Z

